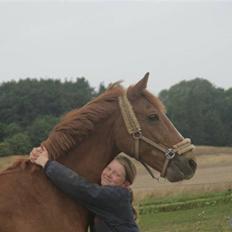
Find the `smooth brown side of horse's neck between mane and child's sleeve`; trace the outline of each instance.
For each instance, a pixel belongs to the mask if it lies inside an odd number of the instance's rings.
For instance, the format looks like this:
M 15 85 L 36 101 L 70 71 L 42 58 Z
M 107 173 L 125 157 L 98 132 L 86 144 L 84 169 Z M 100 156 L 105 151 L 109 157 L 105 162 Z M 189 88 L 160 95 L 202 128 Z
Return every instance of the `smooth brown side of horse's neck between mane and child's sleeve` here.
M 119 152 L 114 145 L 112 128 L 113 120 L 97 125 L 91 135 L 58 161 L 81 176 L 99 182 L 102 170 Z

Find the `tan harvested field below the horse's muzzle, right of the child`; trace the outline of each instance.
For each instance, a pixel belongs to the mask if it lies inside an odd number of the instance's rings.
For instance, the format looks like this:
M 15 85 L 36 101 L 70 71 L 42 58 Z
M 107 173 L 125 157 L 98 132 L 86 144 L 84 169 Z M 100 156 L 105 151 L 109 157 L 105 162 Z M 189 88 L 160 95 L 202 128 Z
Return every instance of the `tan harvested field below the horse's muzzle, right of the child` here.
M 136 198 L 147 195 L 169 196 L 181 193 L 223 191 L 232 188 L 232 148 L 199 146 L 196 148 L 198 169 L 187 181 L 170 183 L 153 180 L 142 165 L 137 164 L 138 176 L 133 185 Z M 159 173 L 157 173 L 159 176 Z

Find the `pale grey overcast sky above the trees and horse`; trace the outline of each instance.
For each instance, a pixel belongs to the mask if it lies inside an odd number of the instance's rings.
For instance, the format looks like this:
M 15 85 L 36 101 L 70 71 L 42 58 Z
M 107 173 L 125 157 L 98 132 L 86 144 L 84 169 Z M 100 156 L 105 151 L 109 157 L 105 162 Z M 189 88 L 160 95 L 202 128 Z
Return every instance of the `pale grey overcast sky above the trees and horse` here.
M 232 87 L 232 1 L 0 1 L 0 83 L 75 79 L 93 87 L 150 72 Z

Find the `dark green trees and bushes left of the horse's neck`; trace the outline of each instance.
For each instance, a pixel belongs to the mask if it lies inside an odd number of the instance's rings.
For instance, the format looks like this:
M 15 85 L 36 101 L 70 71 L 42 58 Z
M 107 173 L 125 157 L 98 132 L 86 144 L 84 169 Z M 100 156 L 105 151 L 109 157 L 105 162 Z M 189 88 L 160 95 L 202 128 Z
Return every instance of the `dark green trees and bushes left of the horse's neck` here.
M 66 112 L 105 90 L 85 78 L 75 81 L 26 79 L 0 85 L 0 156 L 27 154 L 47 138 Z

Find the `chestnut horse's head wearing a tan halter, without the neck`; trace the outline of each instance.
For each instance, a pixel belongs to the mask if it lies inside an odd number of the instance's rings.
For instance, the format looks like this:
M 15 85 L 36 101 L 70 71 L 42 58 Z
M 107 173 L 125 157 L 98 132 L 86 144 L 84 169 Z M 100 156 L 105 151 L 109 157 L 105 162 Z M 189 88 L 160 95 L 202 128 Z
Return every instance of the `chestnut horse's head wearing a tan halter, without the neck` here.
M 194 146 L 177 131 L 158 98 L 146 90 L 149 73 L 119 97 L 121 114 L 115 122 L 120 151 L 148 165 L 171 182 L 190 179 L 197 164 Z

